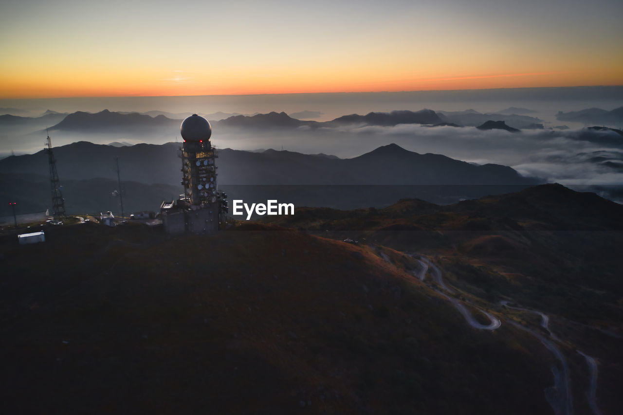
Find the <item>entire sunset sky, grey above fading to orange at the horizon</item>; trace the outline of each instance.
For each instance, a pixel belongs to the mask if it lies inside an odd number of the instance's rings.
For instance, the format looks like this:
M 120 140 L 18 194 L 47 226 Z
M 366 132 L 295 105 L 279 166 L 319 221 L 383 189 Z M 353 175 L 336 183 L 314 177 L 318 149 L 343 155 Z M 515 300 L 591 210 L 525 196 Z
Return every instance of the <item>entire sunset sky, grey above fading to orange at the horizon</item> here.
M 623 84 L 621 0 L 0 5 L 0 98 Z

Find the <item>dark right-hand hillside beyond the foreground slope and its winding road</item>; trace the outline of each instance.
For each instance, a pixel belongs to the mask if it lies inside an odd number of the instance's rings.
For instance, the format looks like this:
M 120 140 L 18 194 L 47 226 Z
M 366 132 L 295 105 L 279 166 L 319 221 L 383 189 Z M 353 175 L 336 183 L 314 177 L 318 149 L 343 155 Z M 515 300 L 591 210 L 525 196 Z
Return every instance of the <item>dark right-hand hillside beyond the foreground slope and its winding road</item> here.
M 449 206 L 403 199 L 385 209 L 298 208 L 294 216 L 264 220 L 423 255 L 422 263 L 434 259 L 461 298 L 523 318 L 550 346 L 564 346 L 576 413 L 590 411 L 590 375 L 578 350 L 599 361 L 597 407 L 618 413 L 622 218 L 620 204 L 548 184 Z M 515 308 L 503 305 L 509 302 Z

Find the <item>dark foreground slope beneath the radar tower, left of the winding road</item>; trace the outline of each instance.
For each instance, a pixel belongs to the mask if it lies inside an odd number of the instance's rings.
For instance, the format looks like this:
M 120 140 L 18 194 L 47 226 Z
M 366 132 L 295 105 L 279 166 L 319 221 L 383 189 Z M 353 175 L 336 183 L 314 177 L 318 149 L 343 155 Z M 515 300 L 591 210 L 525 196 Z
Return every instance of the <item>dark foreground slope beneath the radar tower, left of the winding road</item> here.
M 466 325 L 406 272 L 409 257 L 386 251 L 396 267 L 372 247 L 257 229 L 167 240 L 87 224 L 37 246 L 5 239 L 6 406 L 551 412 L 551 356 L 510 325 Z

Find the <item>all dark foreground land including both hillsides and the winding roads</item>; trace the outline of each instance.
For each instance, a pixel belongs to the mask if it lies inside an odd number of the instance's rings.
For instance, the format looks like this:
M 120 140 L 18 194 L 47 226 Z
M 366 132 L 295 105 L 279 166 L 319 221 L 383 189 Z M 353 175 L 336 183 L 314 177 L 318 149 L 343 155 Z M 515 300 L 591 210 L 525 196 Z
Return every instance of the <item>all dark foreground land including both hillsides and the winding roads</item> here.
M 302 210 L 288 226 L 305 231 L 246 223 L 167 239 L 138 224 L 87 223 L 47 229 L 32 246 L 1 236 L 3 406 L 619 413 L 621 231 L 603 226 L 620 207 L 564 188 L 546 203 L 543 188 L 446 207 Z M 540 214 L 584 204 L 532 233 L 551 218 L 500 213 L 500 201 L 521 200 Z M 590 219 L 590 208 L 601 210 Z M 480 228 L 458 231 L 475 226 L 470 209 Z M 575 230 L 564 233 L 569 221 Z M 329 238 L 345 229 L 359 244 Z M 568 251 L 578 237 L 586 244 Z M 596 384 L 576 350 L 596 363 Z

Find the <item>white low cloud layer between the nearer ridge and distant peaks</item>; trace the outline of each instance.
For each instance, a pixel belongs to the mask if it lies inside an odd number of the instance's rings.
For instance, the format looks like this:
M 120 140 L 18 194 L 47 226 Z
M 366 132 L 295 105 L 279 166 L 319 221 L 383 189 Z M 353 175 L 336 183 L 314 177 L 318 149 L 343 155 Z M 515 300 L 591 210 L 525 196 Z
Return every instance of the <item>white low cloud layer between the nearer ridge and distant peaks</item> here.
M 26 137 L 32 140 L 31 145 L 26 145 L 26 141 L 15 144 L 21 146 L 22 153 L 39 151 L 42 138 L 45 138 L 42 133 L 38 131 Z M 175 141 L 176 136 L 162 131 L 158 131 L 158 134 L 152 131 L 148 135 L 62 133 L 53 136 L 52 140 L 54 145 L 80 140 L 100 144 L 112 141 L 162 144 Z M 302 126 L 264 130 L 222 128 L 214 131 L 212 142 L 219 148 L 273 148 L 301 153 L 325 153 L 341 158 L 359 156 L 379 146 L 396 143 L 417 153 L 437 153 L 477 164 L 507 165 L 525 176 L 568 186 L 623 186 L 623 137 L 613 131 L 586 128 L 522 130 L 520 133 L 416 124 L 335 128 Z

